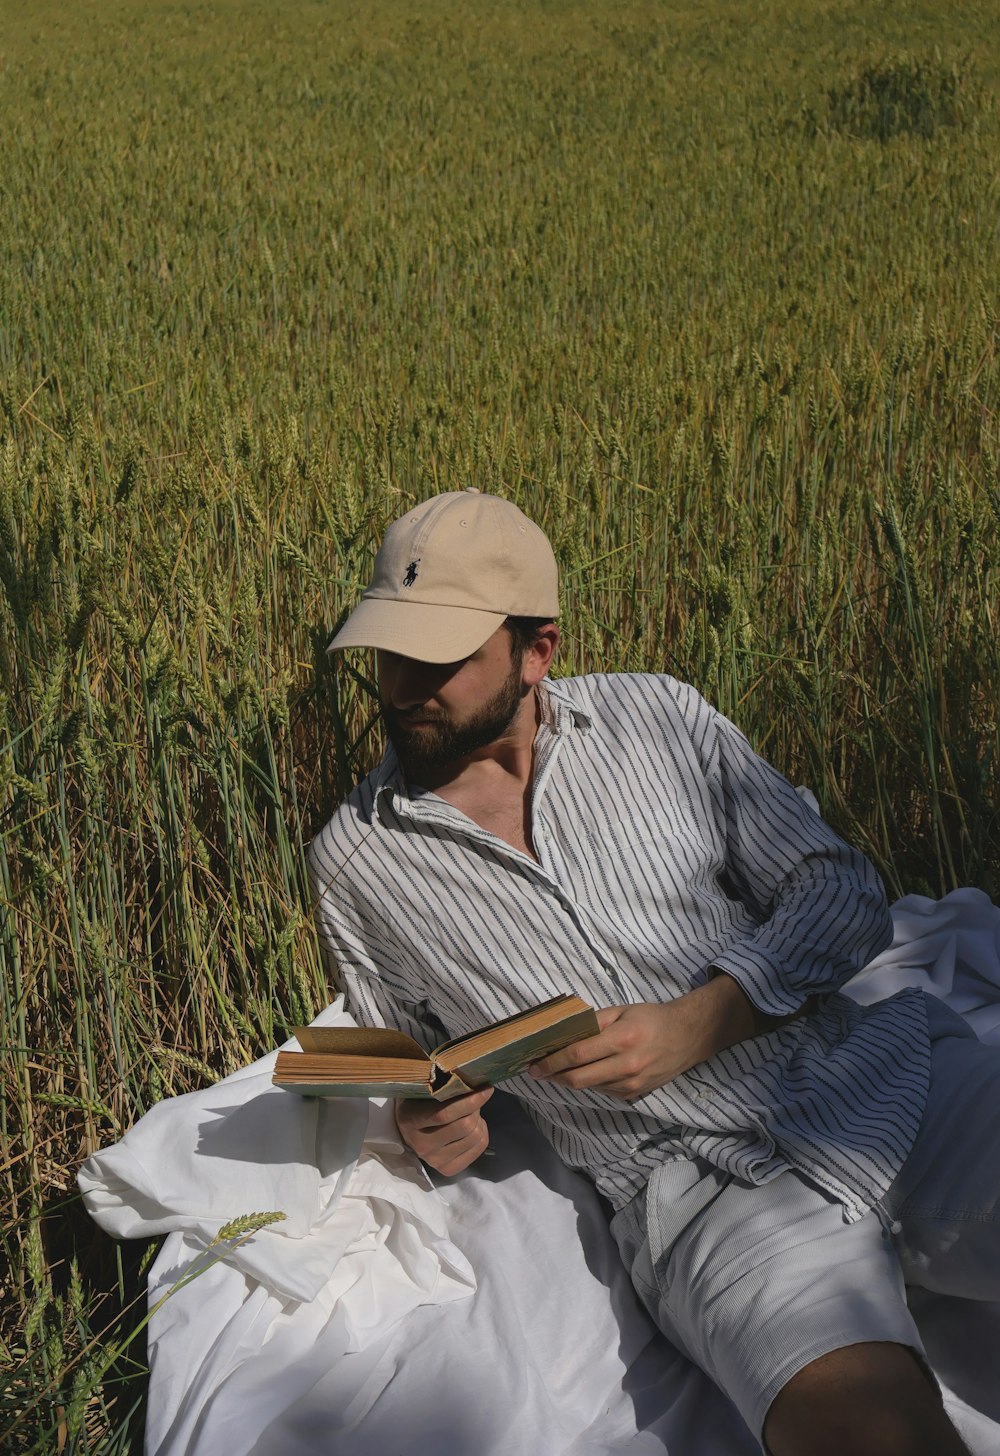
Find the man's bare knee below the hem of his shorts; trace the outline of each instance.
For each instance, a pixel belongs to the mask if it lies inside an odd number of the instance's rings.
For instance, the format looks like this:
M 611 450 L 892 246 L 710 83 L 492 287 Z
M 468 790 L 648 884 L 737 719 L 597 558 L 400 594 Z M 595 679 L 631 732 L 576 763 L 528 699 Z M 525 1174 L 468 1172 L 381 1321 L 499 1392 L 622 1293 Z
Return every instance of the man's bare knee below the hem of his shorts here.
M 859 1344 L 803 1366 L 764 1421 L 770 1456 L 968 1456 L 905 1345 Z

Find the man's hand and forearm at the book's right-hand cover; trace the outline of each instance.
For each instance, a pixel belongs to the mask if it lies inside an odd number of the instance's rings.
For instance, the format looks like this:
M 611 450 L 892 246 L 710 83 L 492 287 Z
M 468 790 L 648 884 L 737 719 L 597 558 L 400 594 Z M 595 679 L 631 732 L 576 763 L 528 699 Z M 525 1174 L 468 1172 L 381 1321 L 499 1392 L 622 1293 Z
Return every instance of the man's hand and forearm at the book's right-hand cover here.
M 632 1102 L 763 1029 L 745 992 L 716 976 L 672 1002 L 598 1010 L 600 1032 L 536 1061 L 533 1077 Z

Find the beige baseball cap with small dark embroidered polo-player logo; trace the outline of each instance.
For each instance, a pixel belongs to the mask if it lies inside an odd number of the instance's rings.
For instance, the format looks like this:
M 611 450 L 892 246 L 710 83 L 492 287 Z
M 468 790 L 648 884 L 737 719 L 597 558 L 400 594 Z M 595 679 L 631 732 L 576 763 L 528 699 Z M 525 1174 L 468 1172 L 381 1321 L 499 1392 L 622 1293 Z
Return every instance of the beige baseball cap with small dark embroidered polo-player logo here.
M 328 646 L 457 662 L 505 617 L 559 614 L 559 572 L 540 527 L 499 495 L 448 491 L 386 531 L 371 585 Z

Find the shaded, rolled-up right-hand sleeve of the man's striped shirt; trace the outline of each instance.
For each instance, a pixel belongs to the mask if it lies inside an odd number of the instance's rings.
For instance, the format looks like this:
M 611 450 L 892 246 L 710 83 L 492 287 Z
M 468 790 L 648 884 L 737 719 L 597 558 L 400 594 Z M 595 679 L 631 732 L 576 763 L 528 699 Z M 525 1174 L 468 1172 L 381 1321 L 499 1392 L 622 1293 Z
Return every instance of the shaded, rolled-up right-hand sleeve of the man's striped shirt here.
M 834 834 L 735 724 L 710 713 L 702 751 L 729 888 L 760 920 L 755 935 L 712 964 L 761 1012 L 786 1016 L 806 997 L 838 990 L 891 942 L 885 890 L 865 855 Z

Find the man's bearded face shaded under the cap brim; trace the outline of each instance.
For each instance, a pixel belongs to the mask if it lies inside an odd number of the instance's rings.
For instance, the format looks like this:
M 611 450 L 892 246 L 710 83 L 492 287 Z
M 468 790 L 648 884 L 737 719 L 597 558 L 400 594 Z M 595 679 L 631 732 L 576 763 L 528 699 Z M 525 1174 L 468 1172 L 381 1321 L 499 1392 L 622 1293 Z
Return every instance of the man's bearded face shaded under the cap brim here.
M 425 783 L 502 738 L 524 699 L 521 655 L 499 628 L 460 662 L 378 652 L 386 731 L 408 779 Z

